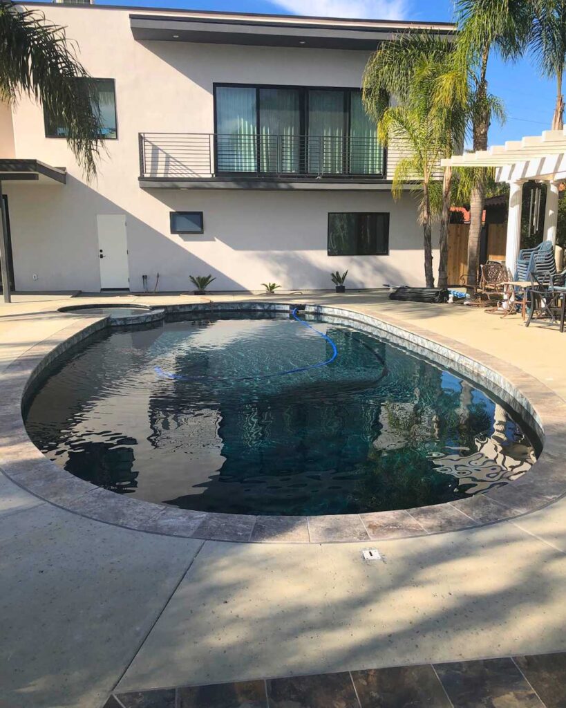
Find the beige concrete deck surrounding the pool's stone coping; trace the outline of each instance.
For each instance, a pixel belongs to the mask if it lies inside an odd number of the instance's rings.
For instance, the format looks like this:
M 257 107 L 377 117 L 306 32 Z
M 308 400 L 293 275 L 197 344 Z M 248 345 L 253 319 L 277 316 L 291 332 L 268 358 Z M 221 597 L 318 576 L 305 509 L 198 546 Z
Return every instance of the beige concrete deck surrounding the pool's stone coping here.
M 566 335 L 556 328 L 367 293 L 299 299 L 480 348 L 566 401 Z M 21 296 L 0 307 L 0 373 L 76 321 L 54 312 L 62 304 L 69 299 Z M 0 544 L 0 706 L 98 708 L 116 686 L 566 649 L 564 498 L 487 527 L 379 541 L 386 562 L 365 564 L 367 542 L 202 542 L 128 530 L 52 506 L 2 476 Z

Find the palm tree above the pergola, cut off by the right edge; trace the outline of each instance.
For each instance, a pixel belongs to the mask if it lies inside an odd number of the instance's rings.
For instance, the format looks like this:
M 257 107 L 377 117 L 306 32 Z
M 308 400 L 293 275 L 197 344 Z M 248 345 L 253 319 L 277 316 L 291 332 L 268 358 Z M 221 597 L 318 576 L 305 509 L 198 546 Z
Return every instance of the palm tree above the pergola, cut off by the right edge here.
M 552 130 L 564 127 L 562 76 L 566 60 L 566 0 L 533 0 L 531 49 L 541 74 L 556 79 Z

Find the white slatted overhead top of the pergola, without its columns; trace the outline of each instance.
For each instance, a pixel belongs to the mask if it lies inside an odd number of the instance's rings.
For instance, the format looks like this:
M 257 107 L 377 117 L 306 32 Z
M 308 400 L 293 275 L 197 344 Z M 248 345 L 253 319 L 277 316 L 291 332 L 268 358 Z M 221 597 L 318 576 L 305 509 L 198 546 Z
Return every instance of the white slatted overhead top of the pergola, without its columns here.
M 499 182 L 566 179 L 566 130 L 545 130 L 487 150 L 453 155 L 442 166 L 495 167 Z

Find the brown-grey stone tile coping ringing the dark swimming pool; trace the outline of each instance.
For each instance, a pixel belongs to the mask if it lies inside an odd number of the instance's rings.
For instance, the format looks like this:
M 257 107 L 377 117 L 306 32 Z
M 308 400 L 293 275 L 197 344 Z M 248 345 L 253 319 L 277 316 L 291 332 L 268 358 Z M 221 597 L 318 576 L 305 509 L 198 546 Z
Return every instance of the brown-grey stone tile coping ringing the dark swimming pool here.
M 288 312 L 296 304 L 241 301 L 163 307 L 166 312 Z M 103 523 L 162 535 L 230 542 L 369 542 L 424 536 L 516 518 L 548 506 L 566 494 L 566 470 L 562 463 L 566 456 L 566 402 L 538 379 L 478 349 L 417 326 L 408 327 L 405 323 L 401 326 L 386 314 L 377 317 L 350 306 L 322 305 L 307 305 L 306 313 L 340 319 L 345 324 L 386 336 L 395 344 L 409 344 L 412 350 L 457 370 L 473 382 L 495 387 L 497 395 L 514 408 L 522 409 L 536 428 L 544 443 L 537 462 L 519 480 L 482 495 L 434 506 L 363 514 L 293 517 L 207 513 L 122 496 L 58 467 L 33 445 L 23 425 L 23 402 L 33 392 L 35 379 L 45 367 L 84 338 L 109 326 L 108 316 L 81 314 L 69 326 L 36 343 L 4 370 L 0 469 L 35 496 Z

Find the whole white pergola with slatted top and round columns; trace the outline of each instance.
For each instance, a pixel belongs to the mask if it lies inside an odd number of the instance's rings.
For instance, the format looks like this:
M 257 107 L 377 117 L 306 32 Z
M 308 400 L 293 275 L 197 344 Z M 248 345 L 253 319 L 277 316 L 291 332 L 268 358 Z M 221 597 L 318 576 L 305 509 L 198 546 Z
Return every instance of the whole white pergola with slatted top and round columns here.
M 541 135 L 509 140 L 488 150 L 453 155 L 442 166 L 495 167 L 495 179 L 509 183 L 507 217 L 507 268 L 515 270 L 521 241 L 521 202 L 523 185 L 529 180 L 547 183 L 544 238 L 556 243 L 558 185 L 566 181 L 566 129 L 545 130 Z

